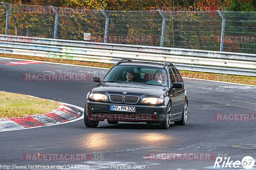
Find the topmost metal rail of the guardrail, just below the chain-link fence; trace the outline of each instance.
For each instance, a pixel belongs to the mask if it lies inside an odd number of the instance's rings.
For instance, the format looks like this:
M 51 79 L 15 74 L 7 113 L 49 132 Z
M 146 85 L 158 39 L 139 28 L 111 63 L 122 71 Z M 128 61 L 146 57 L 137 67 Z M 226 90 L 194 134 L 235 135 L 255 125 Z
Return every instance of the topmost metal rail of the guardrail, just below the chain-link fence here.
M 192 50 L 192 49 L 168 48 L 168 47 L 157 47 L 157 46 L 135 46 L 135 45 L 97 43 L 97 42 L 76 41 L 76 40 L 66 40 L 66 39 L 47 39 L 47 38 L 14 36 L 14 35 L 3 35 L 3 34 L 0 34 L 0 41 L 94 48 L 94 49 L 109 49 L 109 50 L 118 50 L 118 51 L 143 52 L 143 53 L 155 53 L 155 54 L 197 56 L 197 57 L 216 58 L 216 59 L 256 61 L 256 54 L 248 54 L 248 53 L 230 53 L 230 52 Z

